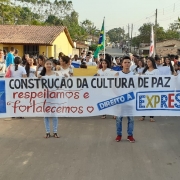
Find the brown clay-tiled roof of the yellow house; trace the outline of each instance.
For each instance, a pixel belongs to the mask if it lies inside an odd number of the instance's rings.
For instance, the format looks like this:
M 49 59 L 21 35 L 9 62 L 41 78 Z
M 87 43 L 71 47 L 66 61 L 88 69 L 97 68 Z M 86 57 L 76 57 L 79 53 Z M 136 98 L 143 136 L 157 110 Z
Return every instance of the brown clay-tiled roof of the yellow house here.
M 64 26 L 0 25 L 0 44 L 52 45 L 63 31 L 73 47 L 73 41 Z

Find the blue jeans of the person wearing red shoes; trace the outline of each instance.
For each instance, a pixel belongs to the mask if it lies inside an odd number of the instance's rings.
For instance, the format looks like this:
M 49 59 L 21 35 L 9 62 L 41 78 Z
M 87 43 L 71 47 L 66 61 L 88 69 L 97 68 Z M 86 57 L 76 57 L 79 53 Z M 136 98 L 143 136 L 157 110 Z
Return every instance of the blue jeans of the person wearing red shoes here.
M 127 134 L 128 136 L 133 136 L 133 130 L 134 130 L 134 117 L 128 116 L 128 126 L 127 126 Z M 116 118 L 116 130 L 117 135 L 122 136 L 122 116 L 119 116 Z

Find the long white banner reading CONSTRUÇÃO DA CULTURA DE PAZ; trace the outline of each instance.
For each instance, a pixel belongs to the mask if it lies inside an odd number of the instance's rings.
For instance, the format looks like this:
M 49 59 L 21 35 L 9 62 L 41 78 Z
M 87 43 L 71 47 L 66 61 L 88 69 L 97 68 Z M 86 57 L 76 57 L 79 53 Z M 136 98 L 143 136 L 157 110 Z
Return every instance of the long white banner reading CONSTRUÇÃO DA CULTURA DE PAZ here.
M 0 79 L 0 117 L 179 116 L 179 76 Z

